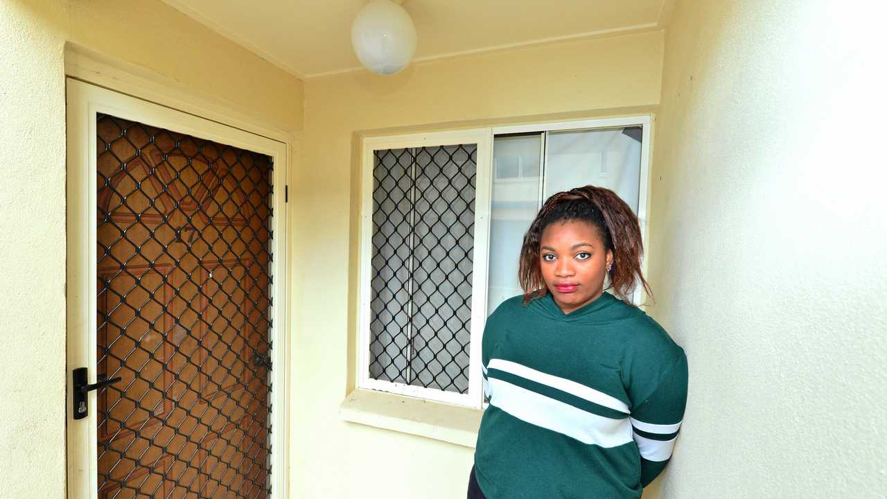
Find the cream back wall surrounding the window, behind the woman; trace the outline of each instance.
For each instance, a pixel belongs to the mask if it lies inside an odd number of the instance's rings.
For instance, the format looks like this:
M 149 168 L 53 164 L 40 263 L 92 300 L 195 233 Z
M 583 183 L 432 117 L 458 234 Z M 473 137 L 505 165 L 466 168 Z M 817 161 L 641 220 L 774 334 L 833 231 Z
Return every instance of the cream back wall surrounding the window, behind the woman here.
M 464 496 L 473 450 L 342 422 L 349 380 L 352 134 L 655 106 L 661 32 L 552 44 L 305 83 L 294 181 L 294 489 L 299 498 Z M 351 269 L 354 270 L 353 268 Z M 353 304 L 352 304 L 353 305 Z

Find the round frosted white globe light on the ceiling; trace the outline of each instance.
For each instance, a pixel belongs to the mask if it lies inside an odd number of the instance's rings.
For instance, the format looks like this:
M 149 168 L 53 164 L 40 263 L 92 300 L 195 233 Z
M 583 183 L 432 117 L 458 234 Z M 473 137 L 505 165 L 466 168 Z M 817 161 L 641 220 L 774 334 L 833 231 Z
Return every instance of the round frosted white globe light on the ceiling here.
M 416 27 L 410 14 L 391 0 L 366 4 L 351 25 L 357 59 L 377 75 L 394 75 L 416 51 Z

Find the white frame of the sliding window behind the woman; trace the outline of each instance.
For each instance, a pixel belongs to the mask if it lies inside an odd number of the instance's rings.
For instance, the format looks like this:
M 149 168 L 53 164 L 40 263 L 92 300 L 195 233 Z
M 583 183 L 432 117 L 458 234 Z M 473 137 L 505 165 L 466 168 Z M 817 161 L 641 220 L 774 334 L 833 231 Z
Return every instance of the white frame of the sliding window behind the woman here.
M 360 143 L 360 210 L 358 252 L 358 311 L 357 311 L 357 379 L 356 388 L 396 395 L 415 397 L 422 400 L 444 402 L 467 408 L 483 409 L 488 403 L 483 400 L 483 376 L 481 374 L 481 345 L 483 327 L 487 319 L 487 273 L 490 257 L 491 195 L 493 171 L 493 140 L 501 134 L 539 132 L 543 134 L 544 156 L 540 168 L 543 176 L 540 181 L 540 196 L 544 193 L 544 169 L 548 162 L 548 133 L 550 131 L 606 130 L 640 126 L 643 139 L 640 143 L 640 179 L 638 193 L 638 220 L 644 248 L 648 249 L 648 196 L 650 183 L 649 153 L 653 139 L 652 115 L 629 115 L 609 118 L 596 118 L 568 122 L 528 123 L 518 125 L 493 126 L 467 130 L 429 131 L 424 133 L 404 133 L 396 135 L 364 136 Z M 444 392 L 436 388 L 425 388 L 411 384 L 396 383 L 370 377 L 370 304 L 372 301 L 373 268 L 373 168 L 374 152 L 383 149 L 407 147 L 439 147 L 459 144 L 476 144 L 475 178 L 475 234 L 474 259 L 472 262 L 471 328 L 468 366 L 468 391 L 466 393 Z M 544 202 L 545 200 L 541 200 Z M 641 270 L 646 275 L 649 250 L 645 251 Z M 634 303 L 644 303 L 644 289 L 638 287 L 632 294 Z M 640 305 L 644 308 L 644 305 Z

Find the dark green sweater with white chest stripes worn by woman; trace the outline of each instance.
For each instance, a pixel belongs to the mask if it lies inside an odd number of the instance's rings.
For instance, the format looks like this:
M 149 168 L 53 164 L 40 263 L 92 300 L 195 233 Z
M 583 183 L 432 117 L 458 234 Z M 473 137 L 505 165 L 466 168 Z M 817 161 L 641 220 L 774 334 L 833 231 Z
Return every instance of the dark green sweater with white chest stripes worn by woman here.
M 609 293 L 564 314 L 551 293 L 499 305 L 483 330 L 475 450 L 488 499 L 640 497 L 671 457 L 687 357 Z

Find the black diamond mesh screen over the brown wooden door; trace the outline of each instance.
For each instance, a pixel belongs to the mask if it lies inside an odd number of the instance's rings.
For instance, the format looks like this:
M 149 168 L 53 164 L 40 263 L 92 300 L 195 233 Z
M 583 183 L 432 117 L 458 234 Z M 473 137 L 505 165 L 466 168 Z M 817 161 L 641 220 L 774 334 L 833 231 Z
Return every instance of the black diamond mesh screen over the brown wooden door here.
M 98 496 L 266 497 L 271 158 L 97 131 Z

